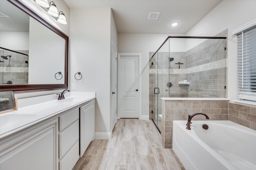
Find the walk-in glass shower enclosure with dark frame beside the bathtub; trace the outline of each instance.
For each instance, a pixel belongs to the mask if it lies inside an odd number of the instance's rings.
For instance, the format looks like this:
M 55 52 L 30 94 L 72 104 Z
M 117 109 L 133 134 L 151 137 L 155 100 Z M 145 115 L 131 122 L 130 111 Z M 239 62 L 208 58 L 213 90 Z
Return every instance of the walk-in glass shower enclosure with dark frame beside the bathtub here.
M 159 131 L 162 97 L 226 97 L 226 35 L 169 36 L 149 53 L 150 119 Z

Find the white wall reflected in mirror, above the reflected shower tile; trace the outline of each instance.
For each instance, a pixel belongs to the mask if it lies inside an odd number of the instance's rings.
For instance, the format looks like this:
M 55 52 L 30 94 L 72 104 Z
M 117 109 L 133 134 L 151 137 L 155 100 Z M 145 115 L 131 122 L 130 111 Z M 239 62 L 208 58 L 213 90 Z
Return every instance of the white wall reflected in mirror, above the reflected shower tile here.
M 0 31 L 0 47 L 12 50 L 28 50 L 29 32 Z

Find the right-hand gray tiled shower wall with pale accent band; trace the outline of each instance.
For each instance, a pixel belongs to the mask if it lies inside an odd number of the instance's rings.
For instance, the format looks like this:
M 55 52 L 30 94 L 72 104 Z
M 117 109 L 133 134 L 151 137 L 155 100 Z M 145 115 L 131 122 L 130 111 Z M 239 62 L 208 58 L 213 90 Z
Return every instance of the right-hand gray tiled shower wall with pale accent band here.
M 186 51 L 186 97 L 226 97 L 226 51 L 225 39 L 208 39 Z

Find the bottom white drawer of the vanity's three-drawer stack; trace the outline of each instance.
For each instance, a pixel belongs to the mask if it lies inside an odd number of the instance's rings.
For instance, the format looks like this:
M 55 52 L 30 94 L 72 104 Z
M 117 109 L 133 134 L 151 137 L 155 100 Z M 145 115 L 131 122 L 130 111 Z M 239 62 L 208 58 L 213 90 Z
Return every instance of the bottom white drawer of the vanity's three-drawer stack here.
M 68 153 L 60 160 L 60 170 L 72 170 L 79 159 L 79 141 L 68 151 Z

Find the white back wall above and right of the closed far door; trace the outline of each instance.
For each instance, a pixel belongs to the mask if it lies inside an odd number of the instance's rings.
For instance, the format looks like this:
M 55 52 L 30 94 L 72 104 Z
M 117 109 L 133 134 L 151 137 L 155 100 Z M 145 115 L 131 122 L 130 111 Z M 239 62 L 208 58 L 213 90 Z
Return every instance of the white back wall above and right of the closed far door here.
M 174 34 L 118 34 L 118 53 L 141 53 L 142 68 L 142 115 L 149 114 L 149 52 L 156 51 L 168 36 Z M 179 35 L 182 36 L 182 35 Z M 173 49 L 184 51 L 183 40 L 172 40 Z M 169 51 L 165 45 L 161 51 Z

